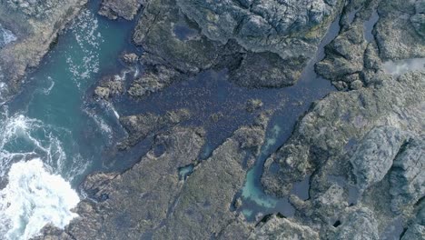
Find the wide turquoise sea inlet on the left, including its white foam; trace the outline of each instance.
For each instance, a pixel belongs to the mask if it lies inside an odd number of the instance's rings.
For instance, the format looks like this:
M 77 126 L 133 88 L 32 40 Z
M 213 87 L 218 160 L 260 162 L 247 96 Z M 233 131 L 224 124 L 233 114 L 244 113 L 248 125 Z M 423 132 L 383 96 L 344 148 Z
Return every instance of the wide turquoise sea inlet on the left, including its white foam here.
M 104 152 L 124 135 L 112 105 L 94 103 L 90 93 L 120 65 L 124 50 L 135 50 L 133 23 L 96 15 L 98 5 L 93 1 L 82 11 L 25 79 L 23 92 L 1 105 L 0 183 L 6 187 L 0 235 L 6 239 L 27 239 L 48 222 L 69 222 L 79 202 L 73 188 L 103 169 Z

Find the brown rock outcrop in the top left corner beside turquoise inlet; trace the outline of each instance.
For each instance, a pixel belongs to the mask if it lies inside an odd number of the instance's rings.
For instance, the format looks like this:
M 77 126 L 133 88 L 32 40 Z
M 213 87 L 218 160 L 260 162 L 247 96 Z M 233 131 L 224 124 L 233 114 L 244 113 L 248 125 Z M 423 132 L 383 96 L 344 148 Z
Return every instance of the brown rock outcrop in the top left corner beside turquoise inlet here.
M 64 25 L 74 18 L 86 0 L 0 1 L 0 24 L 16 40 L 0 48 L 0 82 L 5 95 L 15 94 L 28 68 L 37 66 Z

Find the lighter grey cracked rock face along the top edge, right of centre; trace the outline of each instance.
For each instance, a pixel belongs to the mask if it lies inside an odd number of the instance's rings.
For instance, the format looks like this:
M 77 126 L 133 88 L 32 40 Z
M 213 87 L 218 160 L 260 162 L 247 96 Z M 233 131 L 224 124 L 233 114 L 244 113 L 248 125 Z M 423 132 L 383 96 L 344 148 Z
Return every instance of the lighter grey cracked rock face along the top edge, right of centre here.
M 283 59 L 310 58 L 330 25 L 338 1 L 178 0 L 183 13 L 203 34 L 222 44 L 229 39 L 252 52 L 272 52 Z

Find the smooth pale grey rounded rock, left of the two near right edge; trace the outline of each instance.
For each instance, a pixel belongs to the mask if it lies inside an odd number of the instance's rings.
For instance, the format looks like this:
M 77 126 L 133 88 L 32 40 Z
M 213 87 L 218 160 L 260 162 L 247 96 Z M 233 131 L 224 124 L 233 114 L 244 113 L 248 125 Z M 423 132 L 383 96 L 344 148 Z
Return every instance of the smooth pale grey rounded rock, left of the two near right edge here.
M 350 158 L 361 190 L 381 182 L 407 137 L 399 129 L 388 126 L 373 128 L 363 137 Z

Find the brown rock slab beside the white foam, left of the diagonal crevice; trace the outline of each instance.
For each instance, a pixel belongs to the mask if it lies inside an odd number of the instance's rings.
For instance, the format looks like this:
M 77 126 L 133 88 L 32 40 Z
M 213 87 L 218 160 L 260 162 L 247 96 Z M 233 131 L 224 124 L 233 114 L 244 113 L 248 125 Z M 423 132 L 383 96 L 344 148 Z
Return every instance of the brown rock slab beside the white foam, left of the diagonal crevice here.
M 89 176 L 84 190 L 95 202 L 82 201 L 80 217 L 65 232 L 74 239 L 140 239 L 160 227 L 182 192 L 178 168 L 195 163 L 202 146 L 201 129 L 176 127 L 157 135 L 140 163 L 124 173 Z

